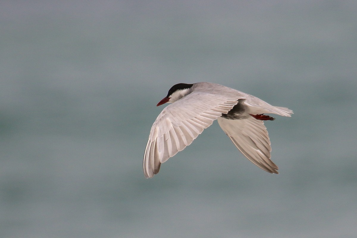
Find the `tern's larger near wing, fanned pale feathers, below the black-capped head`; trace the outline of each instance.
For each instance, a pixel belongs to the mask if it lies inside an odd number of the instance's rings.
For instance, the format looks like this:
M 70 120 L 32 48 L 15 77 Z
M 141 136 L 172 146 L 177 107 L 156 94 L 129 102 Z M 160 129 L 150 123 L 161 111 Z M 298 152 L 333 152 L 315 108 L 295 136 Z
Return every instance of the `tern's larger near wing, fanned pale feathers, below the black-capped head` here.
M 193 92 L 168 105 L 151 127 L 144 153 L 144 174 L 152 178 L 160 164 L 190 145 L 203 129 L 212 125 L 238 103 L 238 98 Z

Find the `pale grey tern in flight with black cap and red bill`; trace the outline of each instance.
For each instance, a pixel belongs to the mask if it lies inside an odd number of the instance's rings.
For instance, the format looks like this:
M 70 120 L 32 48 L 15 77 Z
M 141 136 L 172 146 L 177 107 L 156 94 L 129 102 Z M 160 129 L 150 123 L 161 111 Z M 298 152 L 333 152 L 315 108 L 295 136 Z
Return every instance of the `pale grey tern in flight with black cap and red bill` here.
M 180 83 L 172 86 L 156 106 L 172 103 L 157 116 L 144 152 L 144 174 L 152 178 L 161 163 L 190 145 L 203 129 L 217 119 L 233 144 L 251 162 L 269 173 L 278 174 L 270 160 L 271 147 L 265 120 L 291 116 L 293 111 L 213 83 Z

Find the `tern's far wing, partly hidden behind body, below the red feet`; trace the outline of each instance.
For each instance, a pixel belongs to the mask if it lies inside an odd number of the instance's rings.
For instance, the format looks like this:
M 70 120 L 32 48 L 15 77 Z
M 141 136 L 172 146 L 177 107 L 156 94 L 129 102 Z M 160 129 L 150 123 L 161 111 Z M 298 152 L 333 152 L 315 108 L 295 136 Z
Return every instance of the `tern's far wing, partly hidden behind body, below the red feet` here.
M 265 171 L 278 174 L 278 167 L 270 160 L 270 140 L 262 120 L 253 117 L 241 120 L 220 117 L 217 121 L 245 157 Z

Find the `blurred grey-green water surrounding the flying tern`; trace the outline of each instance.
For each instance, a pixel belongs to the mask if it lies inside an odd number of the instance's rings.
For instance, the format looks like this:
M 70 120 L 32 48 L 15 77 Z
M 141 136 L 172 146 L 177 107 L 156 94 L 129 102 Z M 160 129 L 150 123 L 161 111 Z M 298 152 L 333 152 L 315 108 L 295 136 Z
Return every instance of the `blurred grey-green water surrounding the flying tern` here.
M 1 1 L 0 237 L 357 236 L 356 1 Z M 156 107 L 208 81 L 294 111 L 279 175 L 215 122 L 145 179 Z

